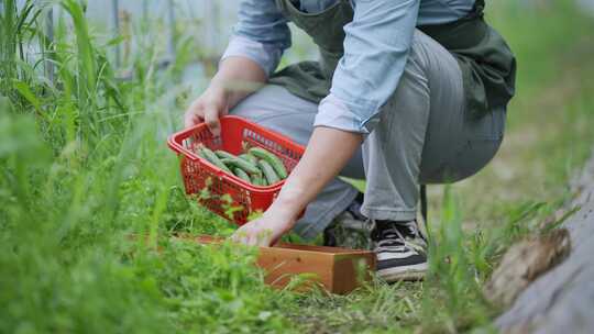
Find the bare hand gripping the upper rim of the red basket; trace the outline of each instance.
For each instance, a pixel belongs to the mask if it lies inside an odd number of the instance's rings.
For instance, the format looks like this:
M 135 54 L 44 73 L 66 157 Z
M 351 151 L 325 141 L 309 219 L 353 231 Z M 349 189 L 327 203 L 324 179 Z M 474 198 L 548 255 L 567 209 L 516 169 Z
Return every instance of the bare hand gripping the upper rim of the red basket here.
M 226 89 L 211 85 L 196 99 L 184 115 L 186 129 L 206 122 L 215 136 L 221 134 L 219 118 L 229 113 L 229 97 Z

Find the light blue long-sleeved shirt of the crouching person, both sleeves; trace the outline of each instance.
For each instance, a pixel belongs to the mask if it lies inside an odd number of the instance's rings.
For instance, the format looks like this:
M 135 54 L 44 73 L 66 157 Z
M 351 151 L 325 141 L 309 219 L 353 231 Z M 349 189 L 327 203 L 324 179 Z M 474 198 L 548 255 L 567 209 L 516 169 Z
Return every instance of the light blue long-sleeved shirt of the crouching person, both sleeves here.
M 340 0 L 300 0 L 300 10 L 320 12 Z M 382 105 L 398 86 L 417 25 L 466 15 L 474 0 L 351 0 L 353 21 L 344 26 L 344 56 L 315 126 L 370 133 Z M 288 21 L 275 0 L 242 0 L 239 22 L 223 59 L 242 56 L 271 75 L 290 47 Z

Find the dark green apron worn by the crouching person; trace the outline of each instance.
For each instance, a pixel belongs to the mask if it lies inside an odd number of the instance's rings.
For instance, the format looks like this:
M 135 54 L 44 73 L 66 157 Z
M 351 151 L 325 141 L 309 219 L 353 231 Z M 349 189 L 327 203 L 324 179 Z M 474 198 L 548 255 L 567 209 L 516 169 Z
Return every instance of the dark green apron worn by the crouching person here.
M 349 0 L 339 0 L 320 13 L 301 12 L 290 0 L 276 0 L 282 13 L 304 30 L 318 46 L 320 62 L 301 62 L 275 73 L 270 84 L 319 103 L 330 93 L 332 76 L 344 54 L 343 26 L 353 20 Z M 460 64 L 466 114 L 480 118 L 506 107 L 515 92 L 516 59 L 503 37 L 483 19 L 484 0 L 451 23 L 417 26 L 447 48 Z

